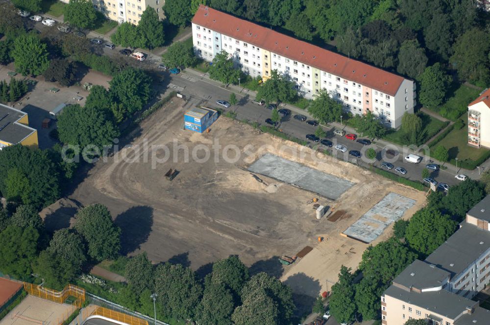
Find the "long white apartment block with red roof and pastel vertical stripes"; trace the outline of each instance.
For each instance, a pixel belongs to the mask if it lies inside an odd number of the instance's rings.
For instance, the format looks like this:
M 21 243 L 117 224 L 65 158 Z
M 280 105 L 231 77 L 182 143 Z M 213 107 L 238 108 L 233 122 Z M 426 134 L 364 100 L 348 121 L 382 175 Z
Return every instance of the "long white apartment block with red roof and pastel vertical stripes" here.
M 196 55 L 212 61 L 226 51 L 252 77 L 272 70 L 294 81 L 298 93 L 314 98 L 321 89 L 352 114 L 371 111 L 385 125 L 401 125 L 414 113 L 415 82 L 270 28 L 201 5 L 192 20 Z

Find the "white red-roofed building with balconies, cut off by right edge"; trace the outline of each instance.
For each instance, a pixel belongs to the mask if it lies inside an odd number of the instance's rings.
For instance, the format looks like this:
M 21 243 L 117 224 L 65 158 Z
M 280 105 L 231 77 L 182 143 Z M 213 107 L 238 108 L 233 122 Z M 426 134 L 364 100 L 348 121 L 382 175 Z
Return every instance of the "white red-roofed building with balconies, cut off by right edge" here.
M 468 105 L 468 145 L 490 148 L 490 89 Z

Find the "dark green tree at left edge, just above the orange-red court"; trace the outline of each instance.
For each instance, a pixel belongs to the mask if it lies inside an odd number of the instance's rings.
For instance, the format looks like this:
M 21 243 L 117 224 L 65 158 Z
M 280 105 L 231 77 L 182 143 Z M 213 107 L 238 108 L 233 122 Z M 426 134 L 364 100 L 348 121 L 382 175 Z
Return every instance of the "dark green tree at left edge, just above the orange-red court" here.
M 32 227 L 10 225 L 0 232 L 0 271 L 21 279 L 32 273 L 39 233 Z

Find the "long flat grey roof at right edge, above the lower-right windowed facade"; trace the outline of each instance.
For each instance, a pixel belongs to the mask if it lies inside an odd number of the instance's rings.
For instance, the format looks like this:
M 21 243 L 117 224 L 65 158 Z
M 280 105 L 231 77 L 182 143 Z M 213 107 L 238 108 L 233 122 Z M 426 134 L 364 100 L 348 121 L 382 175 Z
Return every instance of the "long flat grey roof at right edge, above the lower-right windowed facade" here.
M 425 261 L 456 276 L 490 248 L 490 232 L 463 222 Z

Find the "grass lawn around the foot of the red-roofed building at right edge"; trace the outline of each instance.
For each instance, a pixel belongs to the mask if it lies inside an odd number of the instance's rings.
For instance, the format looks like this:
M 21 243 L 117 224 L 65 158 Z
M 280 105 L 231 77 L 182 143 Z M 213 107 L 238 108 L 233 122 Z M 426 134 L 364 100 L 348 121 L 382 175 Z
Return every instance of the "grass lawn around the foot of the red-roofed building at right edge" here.
M 464 117 L 464 116 L 463 116 Z M 465 121 L 464 118 L 462 118 Z M 466 125 L 459 130 L 453 129 L 447 136 L 439 141 L 433 148 L 443 145 L 449 152 L 449 159 L 458 158 L 460 162 L 470 159 L 477 161 L 482 155 L 488 152 L 484 148 L 474 148 L 468 145 L 468 127 Z

